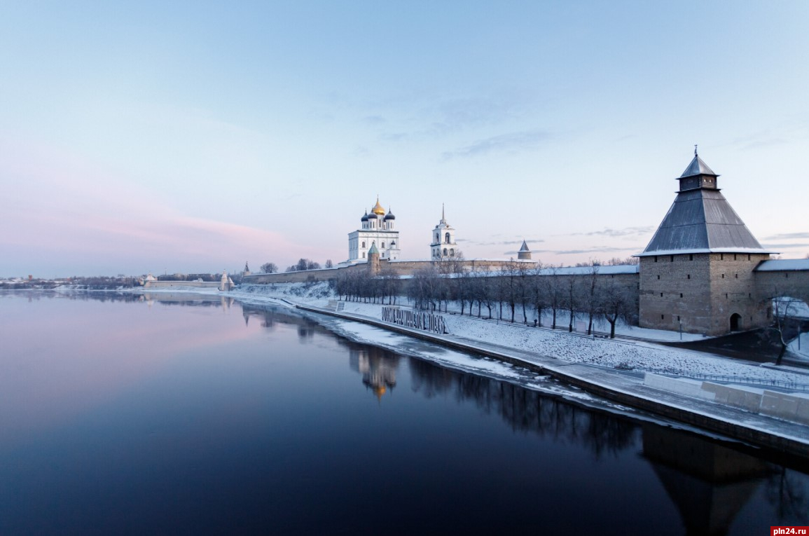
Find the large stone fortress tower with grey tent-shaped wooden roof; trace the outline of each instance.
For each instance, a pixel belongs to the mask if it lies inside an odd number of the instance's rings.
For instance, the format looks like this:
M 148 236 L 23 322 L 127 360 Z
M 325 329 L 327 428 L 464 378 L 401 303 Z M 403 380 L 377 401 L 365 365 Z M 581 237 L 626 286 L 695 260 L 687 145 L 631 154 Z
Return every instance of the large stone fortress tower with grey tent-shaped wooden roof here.
M 719 335 L 767 325 L 753 269 L 772 252 L 731 208 L 718 177 L 695 149 L 674 204 L 638 255 L 641 327 Z

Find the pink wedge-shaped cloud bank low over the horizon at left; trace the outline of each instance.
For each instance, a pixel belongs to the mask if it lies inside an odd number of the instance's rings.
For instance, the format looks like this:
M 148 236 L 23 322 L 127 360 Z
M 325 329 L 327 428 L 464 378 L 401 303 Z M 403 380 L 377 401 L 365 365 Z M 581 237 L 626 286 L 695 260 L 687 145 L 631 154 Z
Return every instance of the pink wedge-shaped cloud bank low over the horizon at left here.
M 77 265 L 87 266 L 85 274 L 104 273 L 105 266 L 135 274 L 168 266 L 214 271 L 241 267 L 247 259 L 282 264 L 284 258 L 314 257 L 313 249 L 279 232 L 180 213 L 158 193 L 100 172 L 76 155 L 19 142 L 8 147 L 0 153 L 6 191 L 0 198 L 0 274 L 63 269 L 70 275 L 81 273 L 70 268 Z

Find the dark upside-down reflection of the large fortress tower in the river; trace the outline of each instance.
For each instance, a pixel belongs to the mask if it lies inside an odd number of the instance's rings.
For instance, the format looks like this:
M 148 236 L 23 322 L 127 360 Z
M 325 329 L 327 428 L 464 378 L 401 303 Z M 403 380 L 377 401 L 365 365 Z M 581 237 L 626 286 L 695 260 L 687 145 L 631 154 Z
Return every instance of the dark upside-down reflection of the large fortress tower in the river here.
M 687 534 L 726 534 L 771 469 L 704 438 L 643 427 L 643 457 L 683 517 Z

